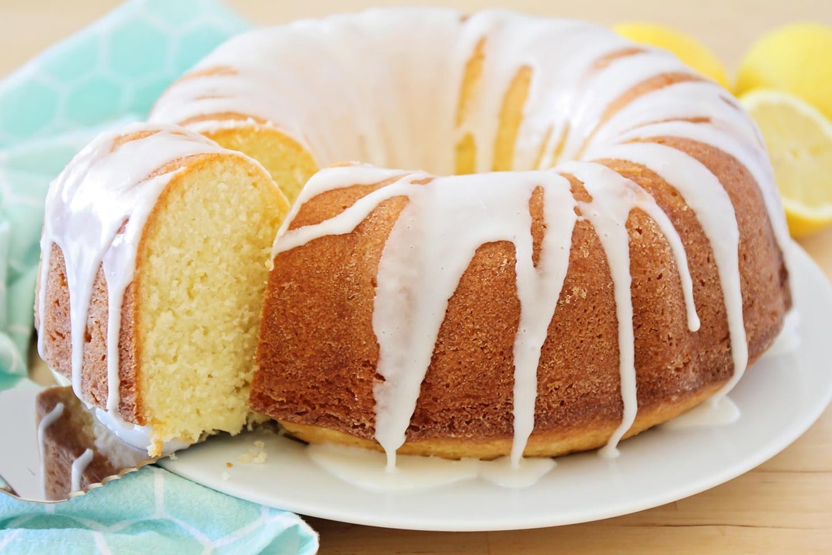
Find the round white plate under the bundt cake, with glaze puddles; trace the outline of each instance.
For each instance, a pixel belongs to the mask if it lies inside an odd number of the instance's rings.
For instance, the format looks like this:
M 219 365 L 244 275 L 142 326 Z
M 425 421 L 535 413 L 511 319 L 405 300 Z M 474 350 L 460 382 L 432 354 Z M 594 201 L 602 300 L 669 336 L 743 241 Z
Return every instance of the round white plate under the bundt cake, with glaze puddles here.
M 803 250 L 793 250 L 800 349 L 760 360 L 730 398 L 734 424 L 651 429 L 620 446 L 615 460 L 582 453 L 530 488 L 469 480 L 421 493 L 370 493 L 324 472 L 288 439 L 242 434 L 212 439 L 161 465 L 209 488 L 255 503 L 346 523 L 417 530 L 539 528 L 609 518 L 685 498 L 745 473 L 785 448 L 832 398 L 832 288 Z M 262 437 L 261 437 L 262 436 Z M 241 464 L 263 439 L 264 464 Z M 226 463 L 232 463 L 228 468 Z

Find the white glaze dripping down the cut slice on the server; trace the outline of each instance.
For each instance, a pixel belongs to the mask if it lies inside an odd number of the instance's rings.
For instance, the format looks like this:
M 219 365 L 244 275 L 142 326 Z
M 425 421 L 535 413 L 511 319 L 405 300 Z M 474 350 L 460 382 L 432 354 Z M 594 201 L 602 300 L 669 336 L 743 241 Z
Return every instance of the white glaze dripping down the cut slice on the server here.
M 150 132 L 151 135 L 116 148 L 120 136 L 139 132 Z M 82 394 L 82 348 L 97 272 L 102 268 L 106 277 L 107 337 L 117 338 L 121 330 L 121 304 L 126 288 L 133 280 L 136 245 L 146 218 L 156 206 L 161 191 L 181 168 L 150 179 L 148 176 L 177 158 L 210 152 L 230 151 L 181 127 L 127 126 L 98 136 L 72 159 L 49 188 L 41 238 L 40 283 L 43 286 L 37 299 L 37 311 L 39 321 L 43 322 L 52 245 L 57 245 L 66 261 L 70 300 L 72 376 L 69 381 L 77 397 L 88 406 L 90 402 Z M 123 230 L 120 230 L 122 225 Z M 46 335 L 38 334 L 42 357 Z M 102 421 L 118 434 L 119 430 L 132 425 L 124 421 L 118 410 L 117 340 L 107 341 L 106 364 L 106 418 Z M 105 413 L 97 411 L 97 414 Z M 144 429 L 146 434 L 150 431 Z

